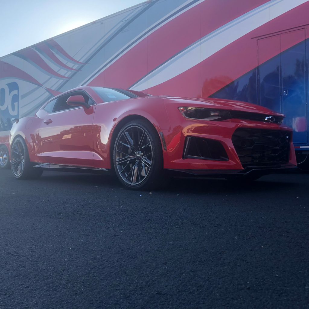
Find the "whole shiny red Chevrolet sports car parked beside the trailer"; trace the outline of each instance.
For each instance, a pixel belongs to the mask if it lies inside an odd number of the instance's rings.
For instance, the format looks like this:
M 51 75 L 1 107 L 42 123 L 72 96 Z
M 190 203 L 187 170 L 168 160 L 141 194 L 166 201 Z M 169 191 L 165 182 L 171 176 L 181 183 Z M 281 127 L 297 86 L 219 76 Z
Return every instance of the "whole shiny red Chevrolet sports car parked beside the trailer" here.
M 110 171 L 133 189 L 167 176 L 256 179 L 296 166 L 283 118 L 245 102 L 83 86 L 14 123 L 11 168 L 18 179 Z

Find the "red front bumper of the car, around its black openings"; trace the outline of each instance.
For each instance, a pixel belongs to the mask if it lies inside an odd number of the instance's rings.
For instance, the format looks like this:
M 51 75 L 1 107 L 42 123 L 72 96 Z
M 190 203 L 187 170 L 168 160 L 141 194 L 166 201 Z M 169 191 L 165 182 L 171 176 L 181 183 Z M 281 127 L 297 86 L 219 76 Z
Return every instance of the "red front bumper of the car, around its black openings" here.
M 269 174 L 277 172 L 280 169 L 296 166 L 295 151 L 292 144 L 292 130 L 290 128 L 258 121 L 237 119 L 230 121 L 199 121 L 185 119 L 182 115 L 180 116 L 177 117 L 178 125 L 174 125 L 171 130 L 163 132 L 166 144 L 166 150 L 163 151 L 164 168 L 172 171 L 172 173 L 177 172 L 178 174 L 188 174 L 197 177 L 199 175 L 240 175 L 256 173 L 257 171 L 264 171 L 265 174 Z M 175 121 L 174 123 L 176 124 L 177 122 Z M 252 164 L 250 167 L 245 166 L 245 164 L 243 165 L 232 141 L 233 134 L 237 129 L 262 129 L 289 132 L 290 145 L 286 162 L 265 164 L 265 166 L 262 164 L 256 166 Z M 188 137 L 204 138 L 220 142 L 228 158 L 226 160 L 205 160 L 190 156 L 184 157 L 186 139 Z

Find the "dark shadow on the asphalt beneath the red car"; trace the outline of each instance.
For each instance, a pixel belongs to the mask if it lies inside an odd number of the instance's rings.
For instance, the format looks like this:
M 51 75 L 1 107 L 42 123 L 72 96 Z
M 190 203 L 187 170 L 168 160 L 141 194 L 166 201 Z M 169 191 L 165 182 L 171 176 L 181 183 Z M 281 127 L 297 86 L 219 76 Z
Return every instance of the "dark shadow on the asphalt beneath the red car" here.
M 161 193 L 214 193 L 221 194 L 235 193 L 239 191 L 276 191 L 278 189 L 291 189 L 308 187 L 307 180 L 303 179 L 306 175 L 268 175 L 263 176 L 260 180 L 252 182 L 244 181 L 228 181 L 223 178 L 207 178 L 207 179 L 181 179 L 173 178 L 170 183 L 164 188 L 156 190 Z M 87 187 L 101 187 L 106 189 L 124 189 L 123 186 L 114 176 L 108 175 L 95 175 L 95 174 L 80 174 L 80 173 L 59 173 L 57 172 L 44 172 L 43 177 L 40 179 L 44 183 L 57 183 L 66 184 L 67 186 L 82 185 Z M 128 190 L 130 191 L 130 190 Z M 132 191 L 131 191 L 132 192 Z M 139 192 L 139 191 L 138 191 Z M 142 190 L 141 190 L 142 192 Z

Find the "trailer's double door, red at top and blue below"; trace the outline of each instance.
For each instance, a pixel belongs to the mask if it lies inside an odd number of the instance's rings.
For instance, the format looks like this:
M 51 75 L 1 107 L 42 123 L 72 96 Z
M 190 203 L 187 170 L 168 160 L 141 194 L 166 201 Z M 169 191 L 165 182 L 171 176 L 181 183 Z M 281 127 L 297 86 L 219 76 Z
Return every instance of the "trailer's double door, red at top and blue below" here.
M 306 144 L 305 29 L 258 40 L 259 104 L 286 115 L 294 144 Z

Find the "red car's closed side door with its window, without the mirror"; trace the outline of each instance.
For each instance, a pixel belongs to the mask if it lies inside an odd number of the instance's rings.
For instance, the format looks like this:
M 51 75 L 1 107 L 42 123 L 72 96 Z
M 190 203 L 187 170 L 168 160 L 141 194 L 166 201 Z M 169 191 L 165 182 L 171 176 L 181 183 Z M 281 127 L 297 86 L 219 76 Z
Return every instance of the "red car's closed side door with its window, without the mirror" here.
M 83 95 L 89 107 L 73 107 L 66 103 L 71 95 Z M 93 167 L 92 123 L 94 101 L 83 91 L 57 98 L 48 109 L 39 129 L 39 152 L 42 163 Z

